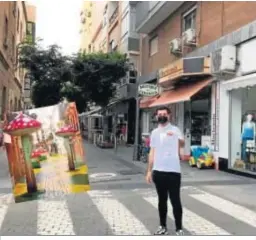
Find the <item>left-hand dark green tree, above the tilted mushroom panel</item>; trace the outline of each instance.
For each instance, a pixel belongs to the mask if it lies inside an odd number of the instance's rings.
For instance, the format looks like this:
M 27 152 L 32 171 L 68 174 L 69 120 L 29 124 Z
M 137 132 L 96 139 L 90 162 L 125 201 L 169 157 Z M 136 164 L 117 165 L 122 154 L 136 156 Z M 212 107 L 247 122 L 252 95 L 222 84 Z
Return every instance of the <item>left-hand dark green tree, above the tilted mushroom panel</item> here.
M 36 107 L 58 103 L 61 98 L 63 72 L 69 68 L 69 58 L 60 47 L 51 45 L 43 49 L 39 42 L 24 42 L 19 46 L 19 62 L 28 70 L 32 83 L 32 102 Z

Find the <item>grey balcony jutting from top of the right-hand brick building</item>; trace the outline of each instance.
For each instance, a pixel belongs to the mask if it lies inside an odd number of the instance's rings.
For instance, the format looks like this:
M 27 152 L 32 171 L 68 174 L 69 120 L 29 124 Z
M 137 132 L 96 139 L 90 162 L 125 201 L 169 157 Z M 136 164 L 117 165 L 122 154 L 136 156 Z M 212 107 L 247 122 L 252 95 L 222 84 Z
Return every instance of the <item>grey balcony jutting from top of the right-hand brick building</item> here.
M 183 3 L 184 1 L 138 2 L 136 4 L 136 31 L 149 34 Z

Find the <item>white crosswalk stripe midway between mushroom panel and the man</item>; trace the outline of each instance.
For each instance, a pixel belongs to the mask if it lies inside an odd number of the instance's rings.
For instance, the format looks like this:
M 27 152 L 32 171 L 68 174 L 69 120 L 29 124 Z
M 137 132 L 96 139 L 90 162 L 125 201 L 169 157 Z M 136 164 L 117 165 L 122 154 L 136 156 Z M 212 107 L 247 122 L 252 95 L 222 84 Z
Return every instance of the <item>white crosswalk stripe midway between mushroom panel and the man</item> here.
M 110 192 L 88 192 L 114 235 L 150 235 L 147 228 Z

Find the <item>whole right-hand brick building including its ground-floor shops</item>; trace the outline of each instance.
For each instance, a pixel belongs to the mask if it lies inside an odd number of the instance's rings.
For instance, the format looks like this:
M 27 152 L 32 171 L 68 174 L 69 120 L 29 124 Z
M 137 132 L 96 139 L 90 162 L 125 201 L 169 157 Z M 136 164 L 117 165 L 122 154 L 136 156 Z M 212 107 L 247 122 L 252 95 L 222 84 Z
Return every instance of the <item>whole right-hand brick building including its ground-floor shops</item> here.
M 156 100 L 143 99 L 141 111 L 145 115 L 169 105 L 185 134 L 184 155 L 191 145 L 210 143 L 220 169 L 255 171 L 254 138 L 247 139 L 243 130 L 251 118 L 246 116 L 254 118 L 250 98 L 255 67 L 249 59 L 255 46 L 255 9 L 255 2 L 136 4 L 136 30 L 142 34 L 139 82 L 155 81 L 161 87 Z M 254 126 L 253 120 L 250 124 Z

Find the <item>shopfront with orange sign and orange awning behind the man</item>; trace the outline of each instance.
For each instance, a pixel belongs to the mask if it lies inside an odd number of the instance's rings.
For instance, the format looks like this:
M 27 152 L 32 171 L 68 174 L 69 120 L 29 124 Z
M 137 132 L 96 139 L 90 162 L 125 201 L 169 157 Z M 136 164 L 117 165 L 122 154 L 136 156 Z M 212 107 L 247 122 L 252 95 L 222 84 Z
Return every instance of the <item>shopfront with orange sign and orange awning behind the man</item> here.
M 212 78 L 210 59 L 183 58 L 159 70 L 159 96 L 150 108 L 169 106 L 172 122 L 185 135 L 184 159 L 192 145 L 210 144 Z M 208 139 L 208 141 L 207 141 Z

